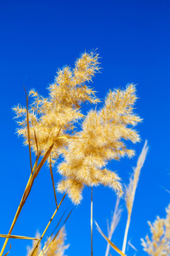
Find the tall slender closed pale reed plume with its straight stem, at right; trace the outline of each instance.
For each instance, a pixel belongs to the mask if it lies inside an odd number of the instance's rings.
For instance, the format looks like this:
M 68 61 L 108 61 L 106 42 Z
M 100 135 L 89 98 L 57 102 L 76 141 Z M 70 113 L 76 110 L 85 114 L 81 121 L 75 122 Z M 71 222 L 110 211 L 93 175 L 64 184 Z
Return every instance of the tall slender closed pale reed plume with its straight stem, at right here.
M 123 240 L 123 249 L 122 249 L 123 253 L 125 253 L 125 248 L 126 248 L 126 243 L 128 238 L 128 230 L 130 227 L 130 218 L 132 214 L 132 206 L 135 199 L 137 183 L 140 178 L 140 171 L 142 169 L 143 164 L 145 163 L 148 149 L 149 147 L 147 146 L 147 140 L 146 140 L 143 146 L 142 152 L 137 160 L 137 166 L 133 168 L 133 173 L 132 173 L 132 176 L 130 177 L 130 183 L 125 188 L 125 203 L 126 203 L 126 208 L 128 210 L 128 220 L 126 223 L 125 235 Z

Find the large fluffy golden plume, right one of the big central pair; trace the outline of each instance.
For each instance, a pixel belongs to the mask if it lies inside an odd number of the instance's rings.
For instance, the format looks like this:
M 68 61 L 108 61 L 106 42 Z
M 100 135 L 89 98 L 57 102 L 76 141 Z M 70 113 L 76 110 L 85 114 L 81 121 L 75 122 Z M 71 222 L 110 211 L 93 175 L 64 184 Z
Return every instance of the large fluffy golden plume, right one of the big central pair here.
M 106 164 L 111 159 L 134 155 L 123 139 L 133 143 L 140 141 L 139 134 L 133 129 L 141 121 L 132 112 L 137 100 L 135 92 L 132 84 L 125 90 L 110 91 L 101 110 L 90 110 L 86 115 L 81 132 L 75 134 L 81 139 L 69 139 L 64 161 L 58 166 L 64 178 L 57 184 L 57 191 L 67 192 L 73 203 L 80 203 L 84 185 L 103 184 L 122 195 L 118 174 L 106 169 Z

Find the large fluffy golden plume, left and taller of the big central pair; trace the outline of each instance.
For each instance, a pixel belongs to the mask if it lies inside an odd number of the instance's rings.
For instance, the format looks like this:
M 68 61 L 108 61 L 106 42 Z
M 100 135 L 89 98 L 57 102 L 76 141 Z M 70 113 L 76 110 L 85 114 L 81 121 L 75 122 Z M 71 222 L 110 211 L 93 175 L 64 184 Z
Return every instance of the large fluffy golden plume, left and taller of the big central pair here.
M 59 134 L 60 137 L 72 134 L 74 123 L 84 117 L 81 114 L 81 103 L 99 102 L 95 91 L 86 85 L 98 70 L 98 54 L 84 53 L 77 59 L 73 69 L 67 66 L 58 70 L 55 82 L 47 88 L 48 97 L 42 97 L 37 91 L 30 90 L 29 96 L 33 97 L 33 102 L 28 107 L 30 146 L 35 154 L 45 154 L 54 143 L 51 161 L 55 163 L 62 146 L 67 144 L 65 139 L 58 139 Z M 16 118 L 19 118 L 17 133 L 23 136 L 24 144 L 28 145 L 26 107 L 18 105 L 13 110 Z

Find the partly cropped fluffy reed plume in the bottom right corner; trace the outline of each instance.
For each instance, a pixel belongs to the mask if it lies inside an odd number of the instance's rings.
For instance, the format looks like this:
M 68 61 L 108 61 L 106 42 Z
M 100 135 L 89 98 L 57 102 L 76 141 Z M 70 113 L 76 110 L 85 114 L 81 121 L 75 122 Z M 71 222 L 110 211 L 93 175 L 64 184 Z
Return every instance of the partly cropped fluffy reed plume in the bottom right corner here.
M 143 250 L 151 256 L 170 255 L 170 204 L 166 208 L 166 217 L 157 217 L 154 223 L 148 221 L 152 237 L 146 235 L 142 240 Z

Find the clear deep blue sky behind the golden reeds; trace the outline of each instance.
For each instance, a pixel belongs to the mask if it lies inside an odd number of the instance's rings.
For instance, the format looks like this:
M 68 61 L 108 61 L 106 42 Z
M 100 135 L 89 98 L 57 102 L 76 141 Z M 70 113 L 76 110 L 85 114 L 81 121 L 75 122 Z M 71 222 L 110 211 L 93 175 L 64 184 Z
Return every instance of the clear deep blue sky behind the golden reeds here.
M 30 173 L 28 148 L 23 147 L 22 139 L 15 134 L 11 110 L 18 102 L 26 104 L 23 85 L 26 90 L 34 87 L 46 95 L 46 87 L 54 80 L 57 68 L 72 67 L 84 50 L 98 48 L 102 70 L 96 74 L 93 87 L 99 98 L 105 97 L 110 88 L 125 87 L 128 82 L 137 84 L 136 111 L 144 120 L 137 126 L 142 142 L 134 148 L 140 154 L 148 139 L 149 154 L 135 196 L 128 240 L 137 247 L 137 255 L 145 255 L 140 238 L 149 232 L 147 220 L 153 221 L 156 215 L 164 217 L 170 198 L 162 188 L 170 190 L 169 11 L 168 0 L 0 1 L 0 233 L 8 233 Z M 137 156 L 112 161 L 110 168 L 117 170 L 123 182 L 128 183 L 136 161 Z M 55 182 L 59 178 L 55 174 Z M 83 196 L 66 225 L 69 256 L 91 253 L 90 188 L 84 190 Z M 72 203 L 66 199 L 53 225 L 68 205 L 71 209 Z M 104 233 L 106 219 L 110 220 L 114 206 L 115 193 L 111 189 L 102 186 L 94 189 L 94 219 Z M 122 206 L 125 208 L 123 200 Z M 42 233 L 54 210 L 50 171 L 43 168 L 13 234 L 34 236 L 36 230 Z M 113 237 L 118 247 L 122 247 L 126 218 L 124 210 Z M 1 238 L 0 245 L 3 242 Z M 28 241 L 11 240 L 11 243 L 11 256 L 26 255 Z M 94 256 L 104 255 L 105 250 L 106 242 L 94 230 Z M 130 248 L 128 255 L 134 254 Z

